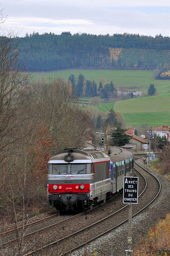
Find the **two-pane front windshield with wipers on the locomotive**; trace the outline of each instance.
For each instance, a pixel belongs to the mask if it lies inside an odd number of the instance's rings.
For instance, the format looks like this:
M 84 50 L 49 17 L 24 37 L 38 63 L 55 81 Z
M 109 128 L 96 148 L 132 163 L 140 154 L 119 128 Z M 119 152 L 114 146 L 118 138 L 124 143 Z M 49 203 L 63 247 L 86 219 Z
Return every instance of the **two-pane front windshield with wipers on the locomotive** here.
M 89 164 L 88 164 L 88 167 L 90 168 Z M 86 164 L 53 164 L 52 173 L 53 174 L 79 174 L 79 173 L 86 174 L 87 166 Z

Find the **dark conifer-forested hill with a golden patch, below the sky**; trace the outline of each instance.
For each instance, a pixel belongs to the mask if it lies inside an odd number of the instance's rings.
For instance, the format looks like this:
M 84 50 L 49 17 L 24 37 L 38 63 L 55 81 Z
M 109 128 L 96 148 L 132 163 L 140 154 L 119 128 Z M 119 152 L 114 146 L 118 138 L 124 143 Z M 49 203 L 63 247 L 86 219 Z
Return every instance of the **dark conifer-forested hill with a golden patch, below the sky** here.
M 161 35 L 33 33 L 17 40 L 19 59 L 26 70 L 153 70 L 162 69 L 165 63 L 170 66 L 170 38 Z

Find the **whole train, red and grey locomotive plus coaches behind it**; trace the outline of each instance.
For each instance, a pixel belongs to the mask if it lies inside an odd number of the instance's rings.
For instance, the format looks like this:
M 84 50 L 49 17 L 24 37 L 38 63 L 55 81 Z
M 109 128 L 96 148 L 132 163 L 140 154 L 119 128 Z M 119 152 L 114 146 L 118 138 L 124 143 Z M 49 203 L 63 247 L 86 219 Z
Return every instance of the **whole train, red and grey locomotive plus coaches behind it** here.
M 69 148 L 52 156 L 48 166 L 48 207 L 85 211 L 123 188 L 124 176 L 133 173 L 133 154 L 120 147 L 110 147 L 108 155 L 95 148 Z

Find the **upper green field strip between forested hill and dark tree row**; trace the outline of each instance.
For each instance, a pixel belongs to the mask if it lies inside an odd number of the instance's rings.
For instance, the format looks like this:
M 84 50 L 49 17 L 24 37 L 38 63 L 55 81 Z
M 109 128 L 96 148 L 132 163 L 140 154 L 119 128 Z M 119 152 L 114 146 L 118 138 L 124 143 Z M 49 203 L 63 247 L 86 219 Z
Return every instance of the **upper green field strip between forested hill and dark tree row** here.
M 118 87 L 138 86 L 139 90 L 147 92 L 150 84 L 154 84 L 159 94 L 168 94 L 170 90 L 170 80 L 155 80 L 153 71 L 134 71 L 134 70 L 77 70 L 68 69 L 64 71 L 49 73 L 33 73 L 33 79 L 39 77 L 58 76 L 67 80 L 73 74 L 77 78 L 79 74 L 85 76 L 86 80 L 95 81 L 99 84 L 100 78 L 103 77 L 106 83 L 117 83 Z M 169 90 L 168 90 L 169 88 Z

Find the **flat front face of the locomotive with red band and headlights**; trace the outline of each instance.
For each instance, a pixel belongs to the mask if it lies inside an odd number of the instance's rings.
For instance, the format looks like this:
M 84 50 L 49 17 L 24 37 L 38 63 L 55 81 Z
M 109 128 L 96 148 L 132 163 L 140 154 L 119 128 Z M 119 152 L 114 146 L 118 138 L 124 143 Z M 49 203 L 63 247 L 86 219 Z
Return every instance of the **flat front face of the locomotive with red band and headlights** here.
M 48 164 L 49 207 L 55 207 L 59 211 L 88 209 L 93 180 L 88 154 L 78 149 L 66 149 L 51 157 Z

